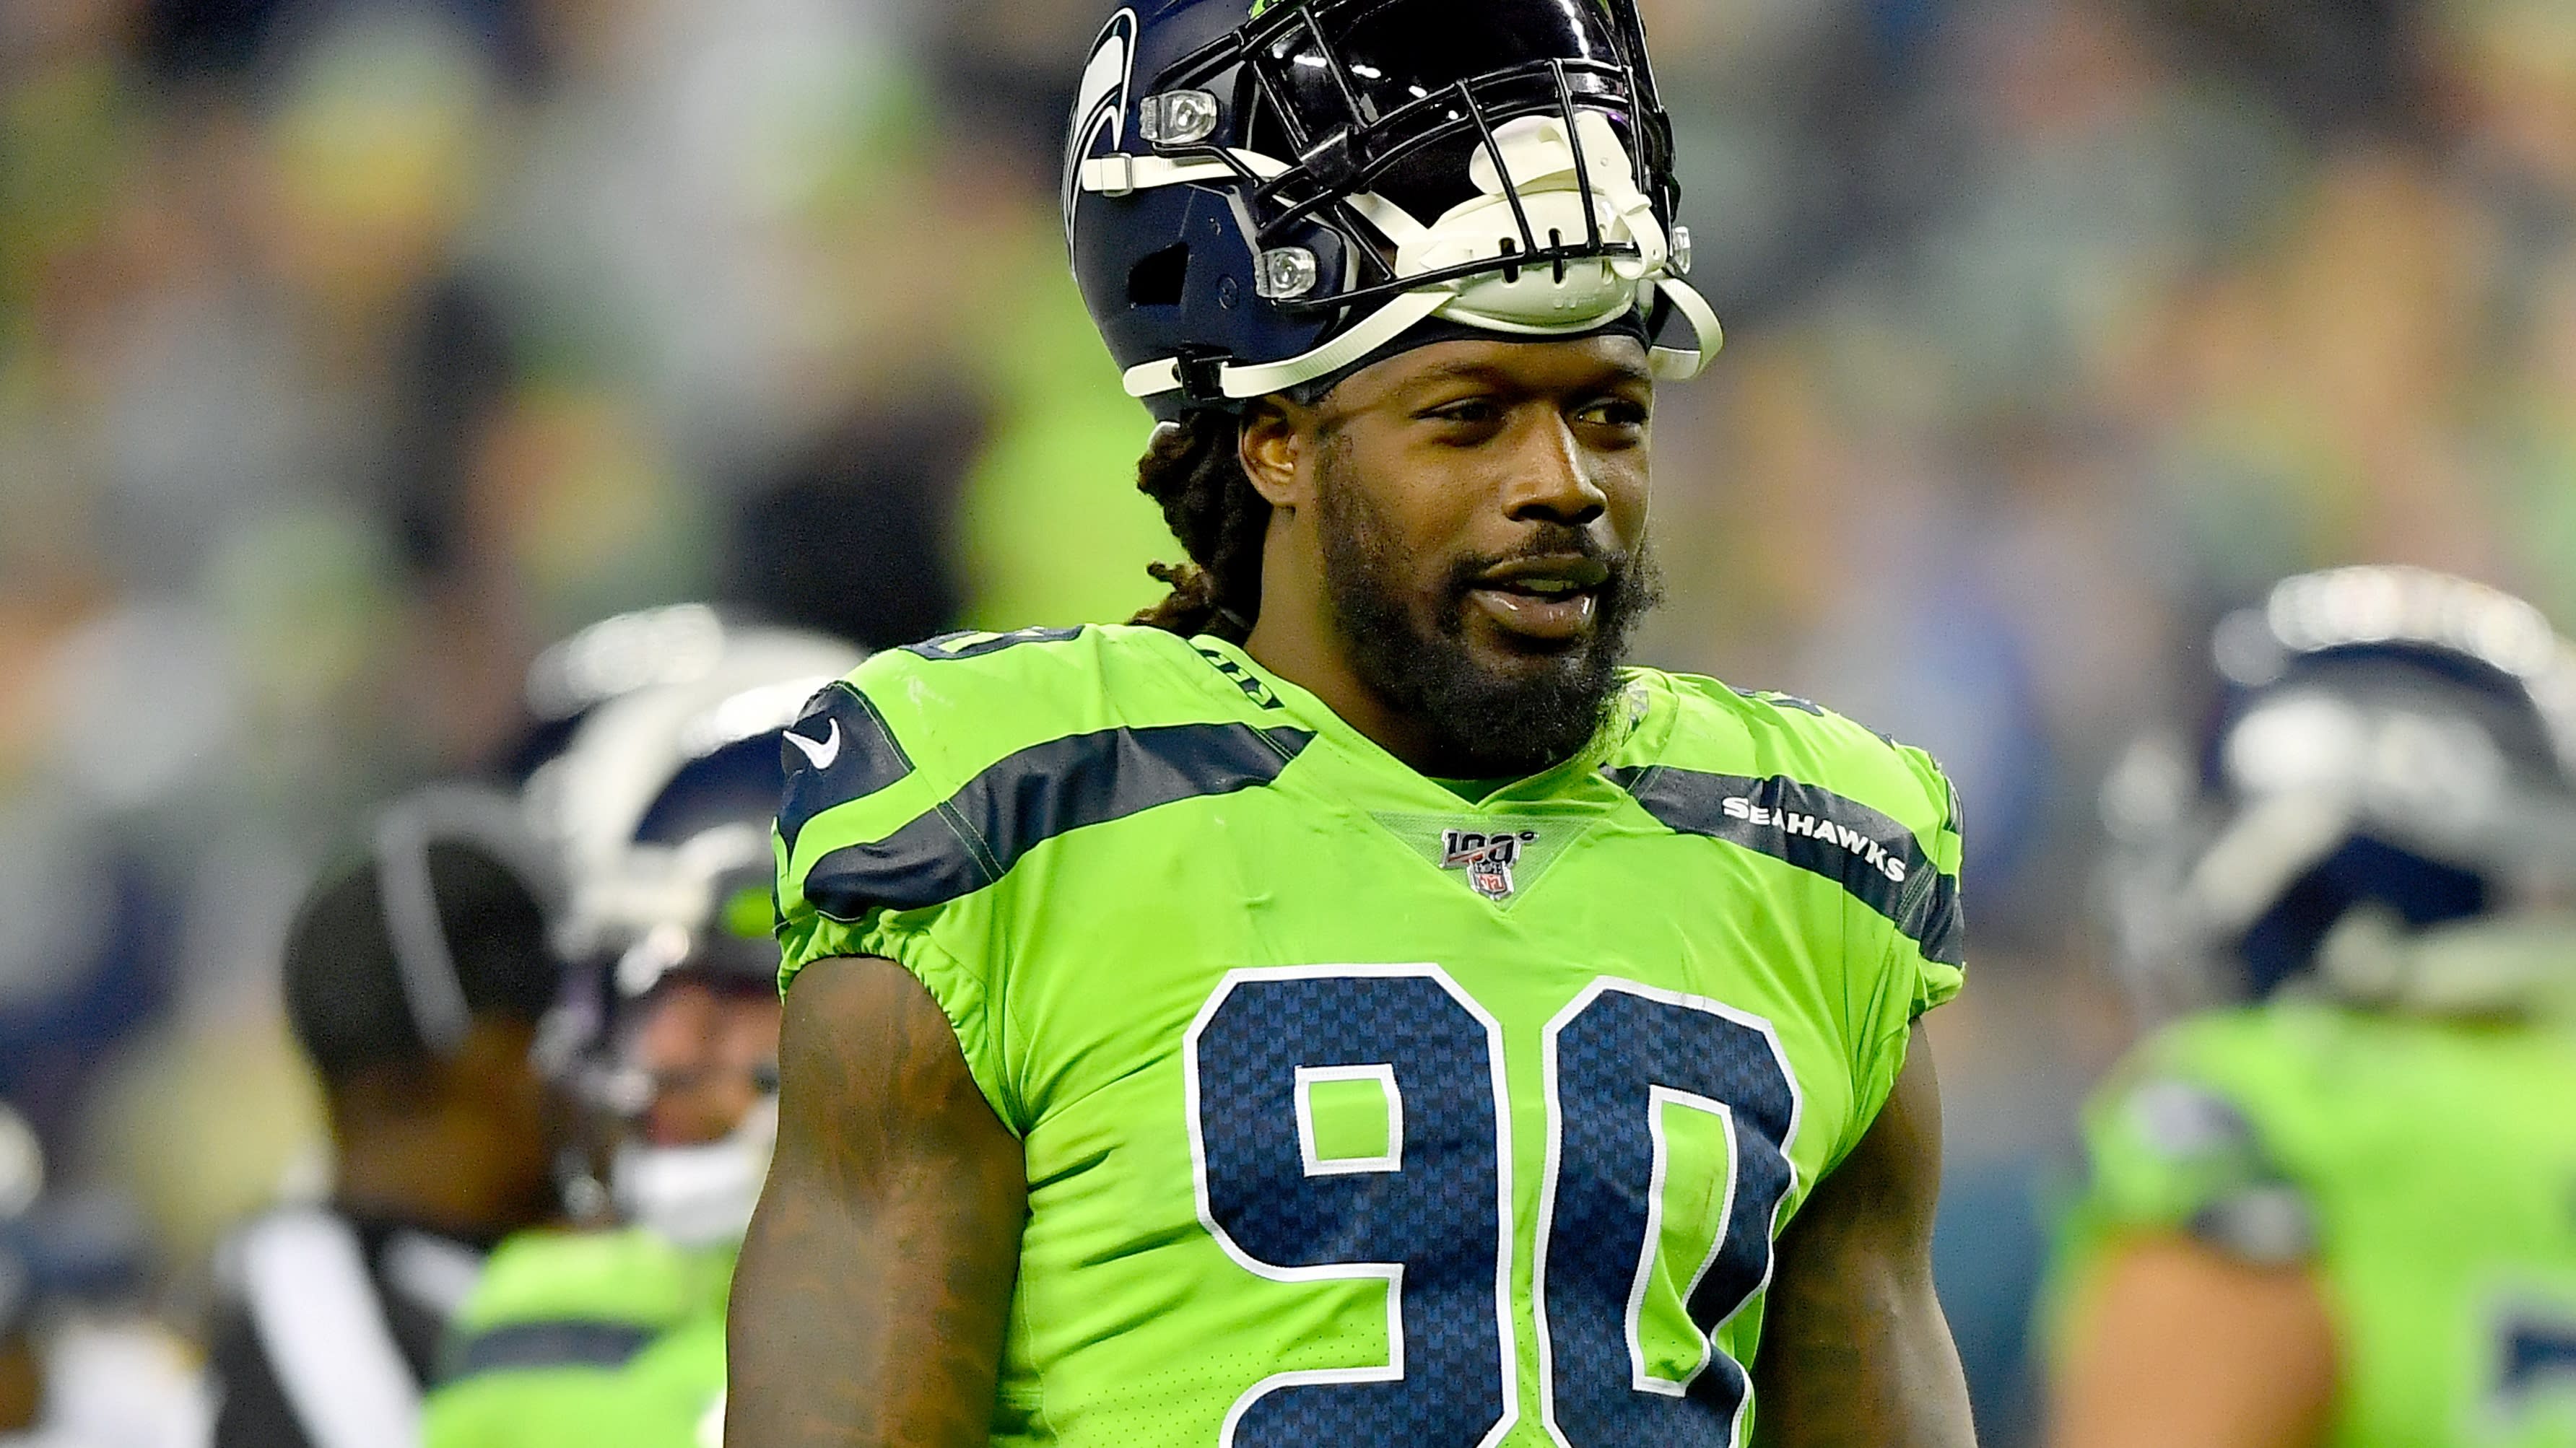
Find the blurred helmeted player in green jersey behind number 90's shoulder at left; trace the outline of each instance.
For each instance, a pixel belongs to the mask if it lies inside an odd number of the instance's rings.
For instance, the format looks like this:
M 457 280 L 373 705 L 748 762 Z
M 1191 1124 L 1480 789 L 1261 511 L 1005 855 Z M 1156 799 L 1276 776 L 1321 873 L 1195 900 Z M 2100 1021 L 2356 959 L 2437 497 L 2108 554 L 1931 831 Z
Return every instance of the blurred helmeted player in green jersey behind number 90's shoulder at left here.
M 500 1247 L 430 1448 L 714 1443 L 724 1293 L 778 1131 L 770 819 L 786 729 L 860 652 L 732 626 L 696 678 L 598 706 L 531 778 L 572 871 L 549 1059 L 585 1108 L 590 1221 Z

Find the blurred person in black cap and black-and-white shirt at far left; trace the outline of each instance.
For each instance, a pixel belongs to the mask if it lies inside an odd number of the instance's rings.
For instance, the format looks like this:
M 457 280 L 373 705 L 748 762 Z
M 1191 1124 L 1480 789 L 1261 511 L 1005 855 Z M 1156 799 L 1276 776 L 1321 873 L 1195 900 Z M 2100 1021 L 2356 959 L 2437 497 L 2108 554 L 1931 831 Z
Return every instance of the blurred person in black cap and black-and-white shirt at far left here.
M 224 1252 L 216 1448 L 415 1443 L 484 1252 L 556 1216 L 531 1062 L 562 982 L 546 879 L 510 796 L 430 788 L 296 915 L 286 1013 L 322 1080 L 330 1196 Z

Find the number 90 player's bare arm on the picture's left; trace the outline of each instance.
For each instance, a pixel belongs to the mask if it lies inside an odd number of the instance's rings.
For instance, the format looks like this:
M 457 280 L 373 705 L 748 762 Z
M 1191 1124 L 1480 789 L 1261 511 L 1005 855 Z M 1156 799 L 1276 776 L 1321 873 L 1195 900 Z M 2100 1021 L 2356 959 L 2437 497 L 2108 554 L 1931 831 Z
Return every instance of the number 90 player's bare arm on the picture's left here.
M 987 1443 L 1028 1183 L 948 1018 L 902 966 L 806 966 L 778 1157 L 734 1275 L 734 1448 Z

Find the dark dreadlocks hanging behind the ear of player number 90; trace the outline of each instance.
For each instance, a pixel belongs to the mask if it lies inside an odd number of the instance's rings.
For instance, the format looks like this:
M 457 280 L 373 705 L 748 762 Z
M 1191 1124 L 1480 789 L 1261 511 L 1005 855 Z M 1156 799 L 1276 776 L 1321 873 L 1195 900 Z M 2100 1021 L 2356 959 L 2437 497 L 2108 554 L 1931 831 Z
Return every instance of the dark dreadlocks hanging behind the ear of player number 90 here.
M 1239 425 L 1224 412 L 1190 412 L 1154 428 L 1154 446 L 1136 464 L 1136 490 L 1162 505 L 1162 520 L 1190 554 L 1154 564 L 1172 595 L 1133 621 L 1172 634 L 1216 634 L 1242 644 L 1262 611 L 1262 538 L 1270 502 L 1244 477 Z

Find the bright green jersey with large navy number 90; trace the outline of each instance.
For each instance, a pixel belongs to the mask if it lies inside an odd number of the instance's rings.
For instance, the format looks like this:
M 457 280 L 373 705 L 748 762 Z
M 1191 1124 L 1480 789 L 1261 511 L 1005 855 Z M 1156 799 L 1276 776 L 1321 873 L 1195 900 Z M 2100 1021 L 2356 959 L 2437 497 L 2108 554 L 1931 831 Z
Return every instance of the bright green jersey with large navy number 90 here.
M 1633 670 L 1463 799 L 1218 639 L 894 649 L 783 982 L 899 961 L 1028 1154 L 997 1443 L 1744 1443 L 1772 1239 L 1960 984 L 1935 763 Z

